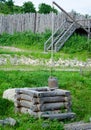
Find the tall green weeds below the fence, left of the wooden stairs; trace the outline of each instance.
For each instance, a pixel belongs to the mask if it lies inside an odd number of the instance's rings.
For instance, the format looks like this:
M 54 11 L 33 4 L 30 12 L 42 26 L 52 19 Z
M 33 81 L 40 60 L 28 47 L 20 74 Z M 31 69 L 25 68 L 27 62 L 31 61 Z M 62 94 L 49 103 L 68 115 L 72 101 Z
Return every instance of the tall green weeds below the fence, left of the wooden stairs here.
M 51 32 L 46 30 L 46 32 L 32 33 L 32 32 L 22 32 L 15 33 L 14 35 L 4 33 L 0 38 L 0 45 L 2 46 L 16 46 L 21 48 L 38 47 L 43 50 L 44 42 L 49 38 Z

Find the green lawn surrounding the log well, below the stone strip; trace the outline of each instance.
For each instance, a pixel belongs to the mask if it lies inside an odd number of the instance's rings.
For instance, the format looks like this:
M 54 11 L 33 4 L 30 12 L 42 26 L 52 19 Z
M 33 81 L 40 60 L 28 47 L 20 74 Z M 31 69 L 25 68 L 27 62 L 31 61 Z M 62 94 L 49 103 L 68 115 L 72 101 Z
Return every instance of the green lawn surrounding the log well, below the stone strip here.
M 15 114 L 12 102 L 2 99 L 3 91 L 8 88 L 17 87 L 41 87 L 47 86 L 50 72 L 45 70 L 36 71 L 0 71 L 0 119 L 6 117 L 15 118 L 18 125 L 14 128 L 6 126 L 7 130 L 61 130 L 62 124 L 58 121 L 37 120 L 30 115 Z M 75 121 L 89 121 L 91 117 L 91 73 L 86 72 L 80 75 L 79 72 L 54 71 L 53 76 L 58 78 L 59 88 L 70 90 L 72 95 L 72 111 L 76 113 Z M 7 109 L 6 109 L 7 108 Z M 26 125 L 25 125 L 26 122 Z M 47 122 L 48 127 L 43 128 L 43 123 Z M 37 125 L 39 124 L 39 125 Z

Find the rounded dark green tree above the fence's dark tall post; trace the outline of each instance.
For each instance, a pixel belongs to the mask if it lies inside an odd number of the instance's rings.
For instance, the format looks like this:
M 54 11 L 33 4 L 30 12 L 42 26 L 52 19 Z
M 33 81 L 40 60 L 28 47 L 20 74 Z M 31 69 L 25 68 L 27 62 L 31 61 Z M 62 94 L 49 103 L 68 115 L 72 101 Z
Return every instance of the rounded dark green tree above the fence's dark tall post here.
M 24 13 L 29 13 L 29 12 L 35 13 L 36 12 L 34 4 L 31 1 L 25 2 L 23 4 L 23 11 L 24 11 Z

